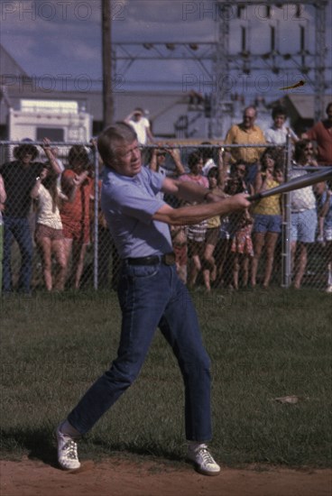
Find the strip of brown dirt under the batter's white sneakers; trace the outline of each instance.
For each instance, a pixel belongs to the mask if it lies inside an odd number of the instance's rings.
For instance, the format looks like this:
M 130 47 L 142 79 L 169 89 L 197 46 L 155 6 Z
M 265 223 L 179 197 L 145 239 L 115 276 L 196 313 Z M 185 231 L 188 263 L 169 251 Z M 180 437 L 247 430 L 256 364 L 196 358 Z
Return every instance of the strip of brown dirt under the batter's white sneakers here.
M 190 465 L 133 462 L 114 458 L 84 462 L 67 473 L 23 458 L 0 461 L 1 496 L 331 496 L 332 470 L 223 468 L 206 477 Z

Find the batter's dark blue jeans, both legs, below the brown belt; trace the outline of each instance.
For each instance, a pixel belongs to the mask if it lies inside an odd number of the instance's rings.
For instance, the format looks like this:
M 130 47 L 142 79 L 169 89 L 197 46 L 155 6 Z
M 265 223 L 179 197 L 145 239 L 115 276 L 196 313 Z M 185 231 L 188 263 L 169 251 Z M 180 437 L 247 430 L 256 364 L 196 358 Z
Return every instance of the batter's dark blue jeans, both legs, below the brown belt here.
M 210 361 L 202 344 L 198 317 L 175 265 L 124 262 L 118 286 L 122 328 L 117 357 L 68 417 L 85 434 L 137 378 L 159 326 L 171 345 L 185 386 L 186 437 L 211 436 Z

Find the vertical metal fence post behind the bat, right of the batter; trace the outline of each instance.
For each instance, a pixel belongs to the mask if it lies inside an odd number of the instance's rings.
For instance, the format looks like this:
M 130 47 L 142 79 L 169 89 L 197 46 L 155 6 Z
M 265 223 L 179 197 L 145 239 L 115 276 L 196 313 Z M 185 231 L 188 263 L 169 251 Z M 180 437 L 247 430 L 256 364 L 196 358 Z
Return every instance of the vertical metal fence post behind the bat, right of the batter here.
M 286 142 L 286 163 L 284 180 L 290 180 L 291 171 L 291 134 L 287 135 Z M 281 253 L 281 271 L 282 271 L 282 288 L 291 286 L 291 193 L 282 195 L 282 253 Z

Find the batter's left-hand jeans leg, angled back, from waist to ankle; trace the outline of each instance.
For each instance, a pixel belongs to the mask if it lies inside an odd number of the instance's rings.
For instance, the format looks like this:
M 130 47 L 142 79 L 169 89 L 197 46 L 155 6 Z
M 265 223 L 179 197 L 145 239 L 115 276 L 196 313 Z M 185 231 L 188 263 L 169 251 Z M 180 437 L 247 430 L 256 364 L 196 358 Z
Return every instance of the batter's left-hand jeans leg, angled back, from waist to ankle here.
M 171 268 L 124 266 L 118 289 L 122 329 L 117 357 L 68 417 L 85 434 L 138 376 L 171 295 Z

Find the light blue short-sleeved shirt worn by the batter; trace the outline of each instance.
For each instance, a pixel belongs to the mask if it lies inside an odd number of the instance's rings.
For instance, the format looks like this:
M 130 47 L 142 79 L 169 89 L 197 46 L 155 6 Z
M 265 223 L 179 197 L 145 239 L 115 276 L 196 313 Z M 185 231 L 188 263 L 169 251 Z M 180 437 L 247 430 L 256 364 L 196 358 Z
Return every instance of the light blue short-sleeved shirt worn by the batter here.
M 164 176 L 143 167 L 134 178 L 105 168 L 101 207 L 120 258 L 172 252 L 169 225 L 152 220 L 165 202 L 156 195 Z

